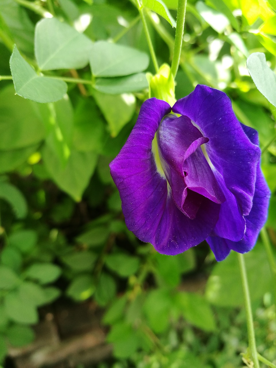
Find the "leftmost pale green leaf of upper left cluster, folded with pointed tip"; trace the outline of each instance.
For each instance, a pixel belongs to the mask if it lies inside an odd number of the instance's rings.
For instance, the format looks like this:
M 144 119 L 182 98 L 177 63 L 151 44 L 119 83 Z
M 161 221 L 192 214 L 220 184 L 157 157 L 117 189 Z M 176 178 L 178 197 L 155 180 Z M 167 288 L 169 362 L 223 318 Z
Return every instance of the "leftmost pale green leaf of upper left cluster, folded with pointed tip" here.
M 15 91 L 21 97 L 46 103 L 62 99 L 67 92 L 65 82 L 37 75 L 35 70 L 20 55 L 16 46 L 14 46 L 11 55 L 10 68 Z

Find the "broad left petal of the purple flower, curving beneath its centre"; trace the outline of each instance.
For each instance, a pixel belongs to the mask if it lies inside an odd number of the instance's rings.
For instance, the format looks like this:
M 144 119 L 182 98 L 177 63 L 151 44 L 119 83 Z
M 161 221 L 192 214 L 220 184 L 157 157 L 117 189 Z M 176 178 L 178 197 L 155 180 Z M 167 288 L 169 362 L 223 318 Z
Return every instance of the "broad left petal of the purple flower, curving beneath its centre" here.
M 166 102 L 155 98 L 143 103 L 127 142 L 110 163 L 110 172 L 120 192 L 128 229 L 160 253 L 178 254 L 210 234 L 220 205 L 202 197 L 197 217 L 192 220 L 174 204 L 152 153 L 155 132 L 170 110 Z

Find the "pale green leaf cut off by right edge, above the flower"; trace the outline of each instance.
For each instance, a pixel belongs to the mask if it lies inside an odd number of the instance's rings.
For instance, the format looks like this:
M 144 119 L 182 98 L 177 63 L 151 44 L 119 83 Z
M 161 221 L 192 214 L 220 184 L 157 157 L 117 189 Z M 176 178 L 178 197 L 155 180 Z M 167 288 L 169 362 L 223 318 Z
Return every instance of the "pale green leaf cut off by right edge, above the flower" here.
M 276 75 L 266 64 L 265 54 L 251 54 L 247 59 L 247 69 L 256 88 L 276 107 Z

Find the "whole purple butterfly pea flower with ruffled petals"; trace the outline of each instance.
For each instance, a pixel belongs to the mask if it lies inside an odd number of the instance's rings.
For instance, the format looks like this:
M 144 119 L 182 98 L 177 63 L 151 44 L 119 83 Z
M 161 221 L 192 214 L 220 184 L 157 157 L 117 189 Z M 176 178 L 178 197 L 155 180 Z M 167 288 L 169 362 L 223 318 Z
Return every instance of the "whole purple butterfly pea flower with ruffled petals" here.
M 266 220 L 258 134 L 204 85 L 172 108 L 146 100 L 110 171 L 128 229 L 162 254 L 206 239 L 221 261 L 251 250 Z

